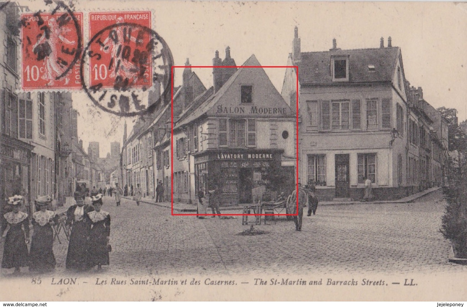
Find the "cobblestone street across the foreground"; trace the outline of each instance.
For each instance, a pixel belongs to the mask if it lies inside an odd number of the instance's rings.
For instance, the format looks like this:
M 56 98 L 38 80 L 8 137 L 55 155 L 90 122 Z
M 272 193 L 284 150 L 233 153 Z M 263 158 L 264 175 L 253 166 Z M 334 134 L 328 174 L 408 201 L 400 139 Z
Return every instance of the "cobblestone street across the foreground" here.
M 249 228 L 241 225 L 239 216 L 171 216 L 170 209 L 146 203 L 137 207 L 131 200 L 122 200 L 117 208 L 105 197 L 113 251 L 104 274 L 465 271 L 447 262 L 450 245 L 438 231 L 444 208 L 436 202 L 440 197 L 436 192 L 409 204 L 321 206 L 315 216 L 307 217 L 305 210 L 301 232 L 295 231 L 293 221 L 280 217 L 276 224 L 255 226 L 269 232 L 261 236 L 238 236 Z M 54 243 L 53 276 L 65 271 L 67 242 L 63 234 L 61 239 L 62 244 Z M 28 276 L 26 268 L 22 271 Z M 11 272 L 2 269 L 1 275 Z

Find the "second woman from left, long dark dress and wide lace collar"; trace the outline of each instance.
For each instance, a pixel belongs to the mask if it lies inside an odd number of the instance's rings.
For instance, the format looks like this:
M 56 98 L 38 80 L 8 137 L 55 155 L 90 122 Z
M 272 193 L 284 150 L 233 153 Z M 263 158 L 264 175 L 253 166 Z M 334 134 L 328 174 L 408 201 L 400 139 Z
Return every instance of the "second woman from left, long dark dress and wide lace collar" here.
M 54 243 L 52 225 L 57 224 L 58 215 L 47 210 L 51 202 L 50 196 L 42 196 L 35 200 L 35 204 L 40 208 L 40 211 L 32 214 L 31 222 L 34 233 L 29 252 L 29 271 L 50 272 L 55 269 L 55 264 L 57 264 L 52 250 Z

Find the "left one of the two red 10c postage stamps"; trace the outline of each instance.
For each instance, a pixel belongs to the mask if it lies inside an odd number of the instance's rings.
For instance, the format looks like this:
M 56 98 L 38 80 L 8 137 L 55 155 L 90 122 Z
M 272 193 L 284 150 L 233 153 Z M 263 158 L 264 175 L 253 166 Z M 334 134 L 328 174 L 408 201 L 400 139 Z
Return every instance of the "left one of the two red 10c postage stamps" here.
M 21 14 L 22 90 L 80 89 L 83 13 Z

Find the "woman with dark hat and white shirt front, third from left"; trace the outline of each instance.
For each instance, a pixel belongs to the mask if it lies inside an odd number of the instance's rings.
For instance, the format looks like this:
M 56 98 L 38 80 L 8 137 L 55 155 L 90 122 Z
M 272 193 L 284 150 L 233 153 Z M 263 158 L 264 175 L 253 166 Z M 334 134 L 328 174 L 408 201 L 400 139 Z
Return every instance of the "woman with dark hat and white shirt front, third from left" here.
M 66 212 L 66 224 L 71 226 L 70 242 L 66 255 L 65 267 L 78 271 L 91 268 L 89 262 L 89 230 L 91 223 L 88 213 L 92 207 L 85 205 L 82 193 L 74 195 L 76 205 L 68 208 Z

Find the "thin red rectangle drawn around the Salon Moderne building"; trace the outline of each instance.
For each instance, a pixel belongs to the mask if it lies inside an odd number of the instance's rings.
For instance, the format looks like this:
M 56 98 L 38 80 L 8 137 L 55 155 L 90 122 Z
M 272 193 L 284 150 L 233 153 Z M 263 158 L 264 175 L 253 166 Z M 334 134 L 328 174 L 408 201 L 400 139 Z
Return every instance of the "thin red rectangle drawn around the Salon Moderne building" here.
M 171 194 L 171 205 L 170 205 L 170 208 L 171 208 L 171 215 L 173 216 L 189 216 L 189 215 L 195 215 L 195 216 L 208 216 L 208 215 L 217 215 L 217 216 L 221 216 L 221 215 L 225 215 L 225 216 L 231 216 L 231 215 L 251 215 L 251 216 L 271 216 L 271 215 L 277 215 L 277 216 L 297 216 L 298 215 L 298 197 L 297 197 L 297 210 L 295 214 L 195 214 L 195 213 L 192 213 L 192 214 L 174 214 L 174 176 L 173 176 L 173 173 L 174 173 L 174 164 L 173 164 L 173 149 L 174 149 L 174 146 L 173 146 L 173 138 L 174 138 L 174 68 L 295 68 L 296 70 L 296 73 L 297 73 L 297 88 L 296 88 L 296 92 L 297 92 L 297 121 L 296 121 L 296 124 L 297 124 L 297 133 L 296 133 L 296 140 L 297 140 L 297 177 L 296 177 L 296 195 L 298 195 L 298 66 L 171 66 L 171 73 L 172 73 L 172 80 L 171 80 L 171 114 L 170 114 L 170 125 L 171 125 L 171 130 L 170 130 L 170 194 Z

